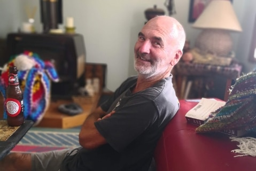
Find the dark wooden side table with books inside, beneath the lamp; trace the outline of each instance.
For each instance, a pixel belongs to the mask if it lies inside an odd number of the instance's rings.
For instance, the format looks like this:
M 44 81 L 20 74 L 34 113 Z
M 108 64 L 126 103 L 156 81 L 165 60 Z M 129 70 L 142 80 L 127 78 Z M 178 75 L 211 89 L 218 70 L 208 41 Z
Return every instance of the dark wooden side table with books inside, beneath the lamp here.
M 231 64 L 182 63 L 173 68 L 176 93 L 179 99 L 215 97 L 227 100 L 232 81 L 240 76 L 242 66 Z

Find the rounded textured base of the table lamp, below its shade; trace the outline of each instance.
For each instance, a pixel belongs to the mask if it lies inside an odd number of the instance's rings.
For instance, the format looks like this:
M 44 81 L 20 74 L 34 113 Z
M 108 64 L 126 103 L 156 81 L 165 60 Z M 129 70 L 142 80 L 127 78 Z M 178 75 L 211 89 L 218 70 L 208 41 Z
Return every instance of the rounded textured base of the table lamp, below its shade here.
M 228 30 L 204 29 L 197 37 L 196 48 L 212 53 L 215 56 L 229 57 L 232 49 L 232 38 Z

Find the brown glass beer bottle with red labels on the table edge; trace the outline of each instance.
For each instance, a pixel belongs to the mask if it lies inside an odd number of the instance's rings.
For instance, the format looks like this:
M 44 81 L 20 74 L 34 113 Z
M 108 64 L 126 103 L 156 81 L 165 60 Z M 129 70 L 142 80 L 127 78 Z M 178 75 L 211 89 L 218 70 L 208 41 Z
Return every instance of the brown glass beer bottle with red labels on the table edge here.
M 9 126 L 20 126 L 24 123 L 23 93 L 20 89 L 18 71 L 15 66 L 9 68 L 9 84 L 6 88 L 6 112 Z

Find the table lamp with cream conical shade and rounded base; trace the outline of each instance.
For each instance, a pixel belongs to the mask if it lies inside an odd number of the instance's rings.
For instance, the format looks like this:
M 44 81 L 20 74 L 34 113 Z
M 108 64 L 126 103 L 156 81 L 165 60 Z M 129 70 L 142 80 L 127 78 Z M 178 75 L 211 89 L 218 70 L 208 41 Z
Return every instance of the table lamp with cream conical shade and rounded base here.
M 195 42 L 196 48 L 219 57 L 230 56 L 232 38 L 229 32 L 242 32 L 232 4 L 228 0 L 211 1 L 192 27 L 203 29 Z

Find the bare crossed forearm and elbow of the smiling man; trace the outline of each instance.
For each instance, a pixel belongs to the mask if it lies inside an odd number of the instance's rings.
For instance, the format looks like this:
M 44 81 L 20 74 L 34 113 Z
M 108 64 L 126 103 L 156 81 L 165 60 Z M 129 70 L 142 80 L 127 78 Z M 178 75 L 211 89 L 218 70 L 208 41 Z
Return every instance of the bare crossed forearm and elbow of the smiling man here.
M 94 122 L 106 119 L 114 113 L 106 113 L 99 106 L 94 112 L 92 112 L 88 118 L 84 121 L 80 134 L 79 143 L 86 149 L 95 149 L 96 147 L 106 144 L 106 139 L 96 129 Z

